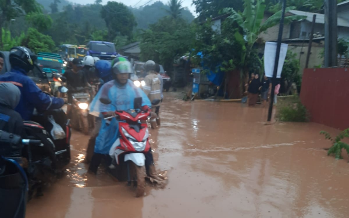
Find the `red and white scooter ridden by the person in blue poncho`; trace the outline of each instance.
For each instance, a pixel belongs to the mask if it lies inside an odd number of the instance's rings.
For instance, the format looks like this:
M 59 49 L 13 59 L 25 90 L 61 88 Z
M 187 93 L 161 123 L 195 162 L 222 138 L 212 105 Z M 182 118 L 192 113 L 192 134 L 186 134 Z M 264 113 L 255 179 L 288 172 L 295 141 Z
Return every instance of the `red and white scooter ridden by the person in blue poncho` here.
M 108 98 L 99 99 L 103 104 L 111 104 Z M 159 99 L 153 100 L 152 105 L 160 103 Z M 126 165 L 127 184 L 134 183 L 136 187 L 136 196 L 144 195 L 145 176 L 146 176 L 146 156 L 150 151 L 149 130 L 146 121 L 150 115 L 149 111 L 141 110 L 142 98 L 135 98 L 134 106 L 136 109 L 126 111 L 115 111 L 115 116 L 107 117 L 106 120 L 116 117 L 119 121 L 118 139 L 110 148 L 112 163 L 110 169 L 124 168 Z M 122 160 L 123 159 L 123 160 Z M 126 164 L 123 164 L 126 163 Z M 120 167 L 121 166 L 121 167 Z M 123 171 L 123 169 L 119 169 Z

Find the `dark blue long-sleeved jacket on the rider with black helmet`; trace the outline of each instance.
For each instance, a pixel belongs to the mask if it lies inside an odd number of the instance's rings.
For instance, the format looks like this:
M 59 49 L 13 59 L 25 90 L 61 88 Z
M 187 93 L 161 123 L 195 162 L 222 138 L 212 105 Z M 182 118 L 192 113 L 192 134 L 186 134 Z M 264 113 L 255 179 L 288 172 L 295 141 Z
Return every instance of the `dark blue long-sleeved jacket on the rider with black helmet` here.
M 44 112 L 59 109 L 64 105 L 62 98 L 51 97 L 42 92 L 20 68 L 13 67 L 11 71 L 0 75 L 0 82 L 11 82 L 20 89 L 21 100 L 15 111 L 21 114 L 23 120 L 30 120 L 34 108 L 38 112 Z

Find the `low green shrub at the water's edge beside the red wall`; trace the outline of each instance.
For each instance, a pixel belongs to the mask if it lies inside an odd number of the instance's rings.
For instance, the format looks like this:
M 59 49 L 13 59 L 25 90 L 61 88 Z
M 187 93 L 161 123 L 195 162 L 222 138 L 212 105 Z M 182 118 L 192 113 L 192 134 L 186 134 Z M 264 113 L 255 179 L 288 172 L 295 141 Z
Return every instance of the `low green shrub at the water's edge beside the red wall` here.
M 309 122 L 310 114 L 298 96 L 280 101 L 277 117 L 284 122 Z

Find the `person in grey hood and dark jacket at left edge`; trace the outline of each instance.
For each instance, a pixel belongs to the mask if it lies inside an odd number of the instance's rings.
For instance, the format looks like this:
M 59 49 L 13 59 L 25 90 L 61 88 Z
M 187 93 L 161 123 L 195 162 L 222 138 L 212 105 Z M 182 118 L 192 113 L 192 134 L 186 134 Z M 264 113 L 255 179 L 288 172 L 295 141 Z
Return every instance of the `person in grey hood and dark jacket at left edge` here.
M 22 137 L 24 124 L 21 115 L 14 109 L 20 102 L 21 91 L 12 83 L 0 83 L 0 130 Z

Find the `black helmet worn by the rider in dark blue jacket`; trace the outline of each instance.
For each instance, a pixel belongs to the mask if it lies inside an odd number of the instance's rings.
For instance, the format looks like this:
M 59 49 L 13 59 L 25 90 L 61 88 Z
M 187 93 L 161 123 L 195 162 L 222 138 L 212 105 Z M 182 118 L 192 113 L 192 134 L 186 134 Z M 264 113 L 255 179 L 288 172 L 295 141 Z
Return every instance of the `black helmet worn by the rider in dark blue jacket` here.
M 37 56 L 29 48 L 17 46 L 10 50 L 11 66 L 19 67 L 27 73 L 34 68 L 36 58 Z

